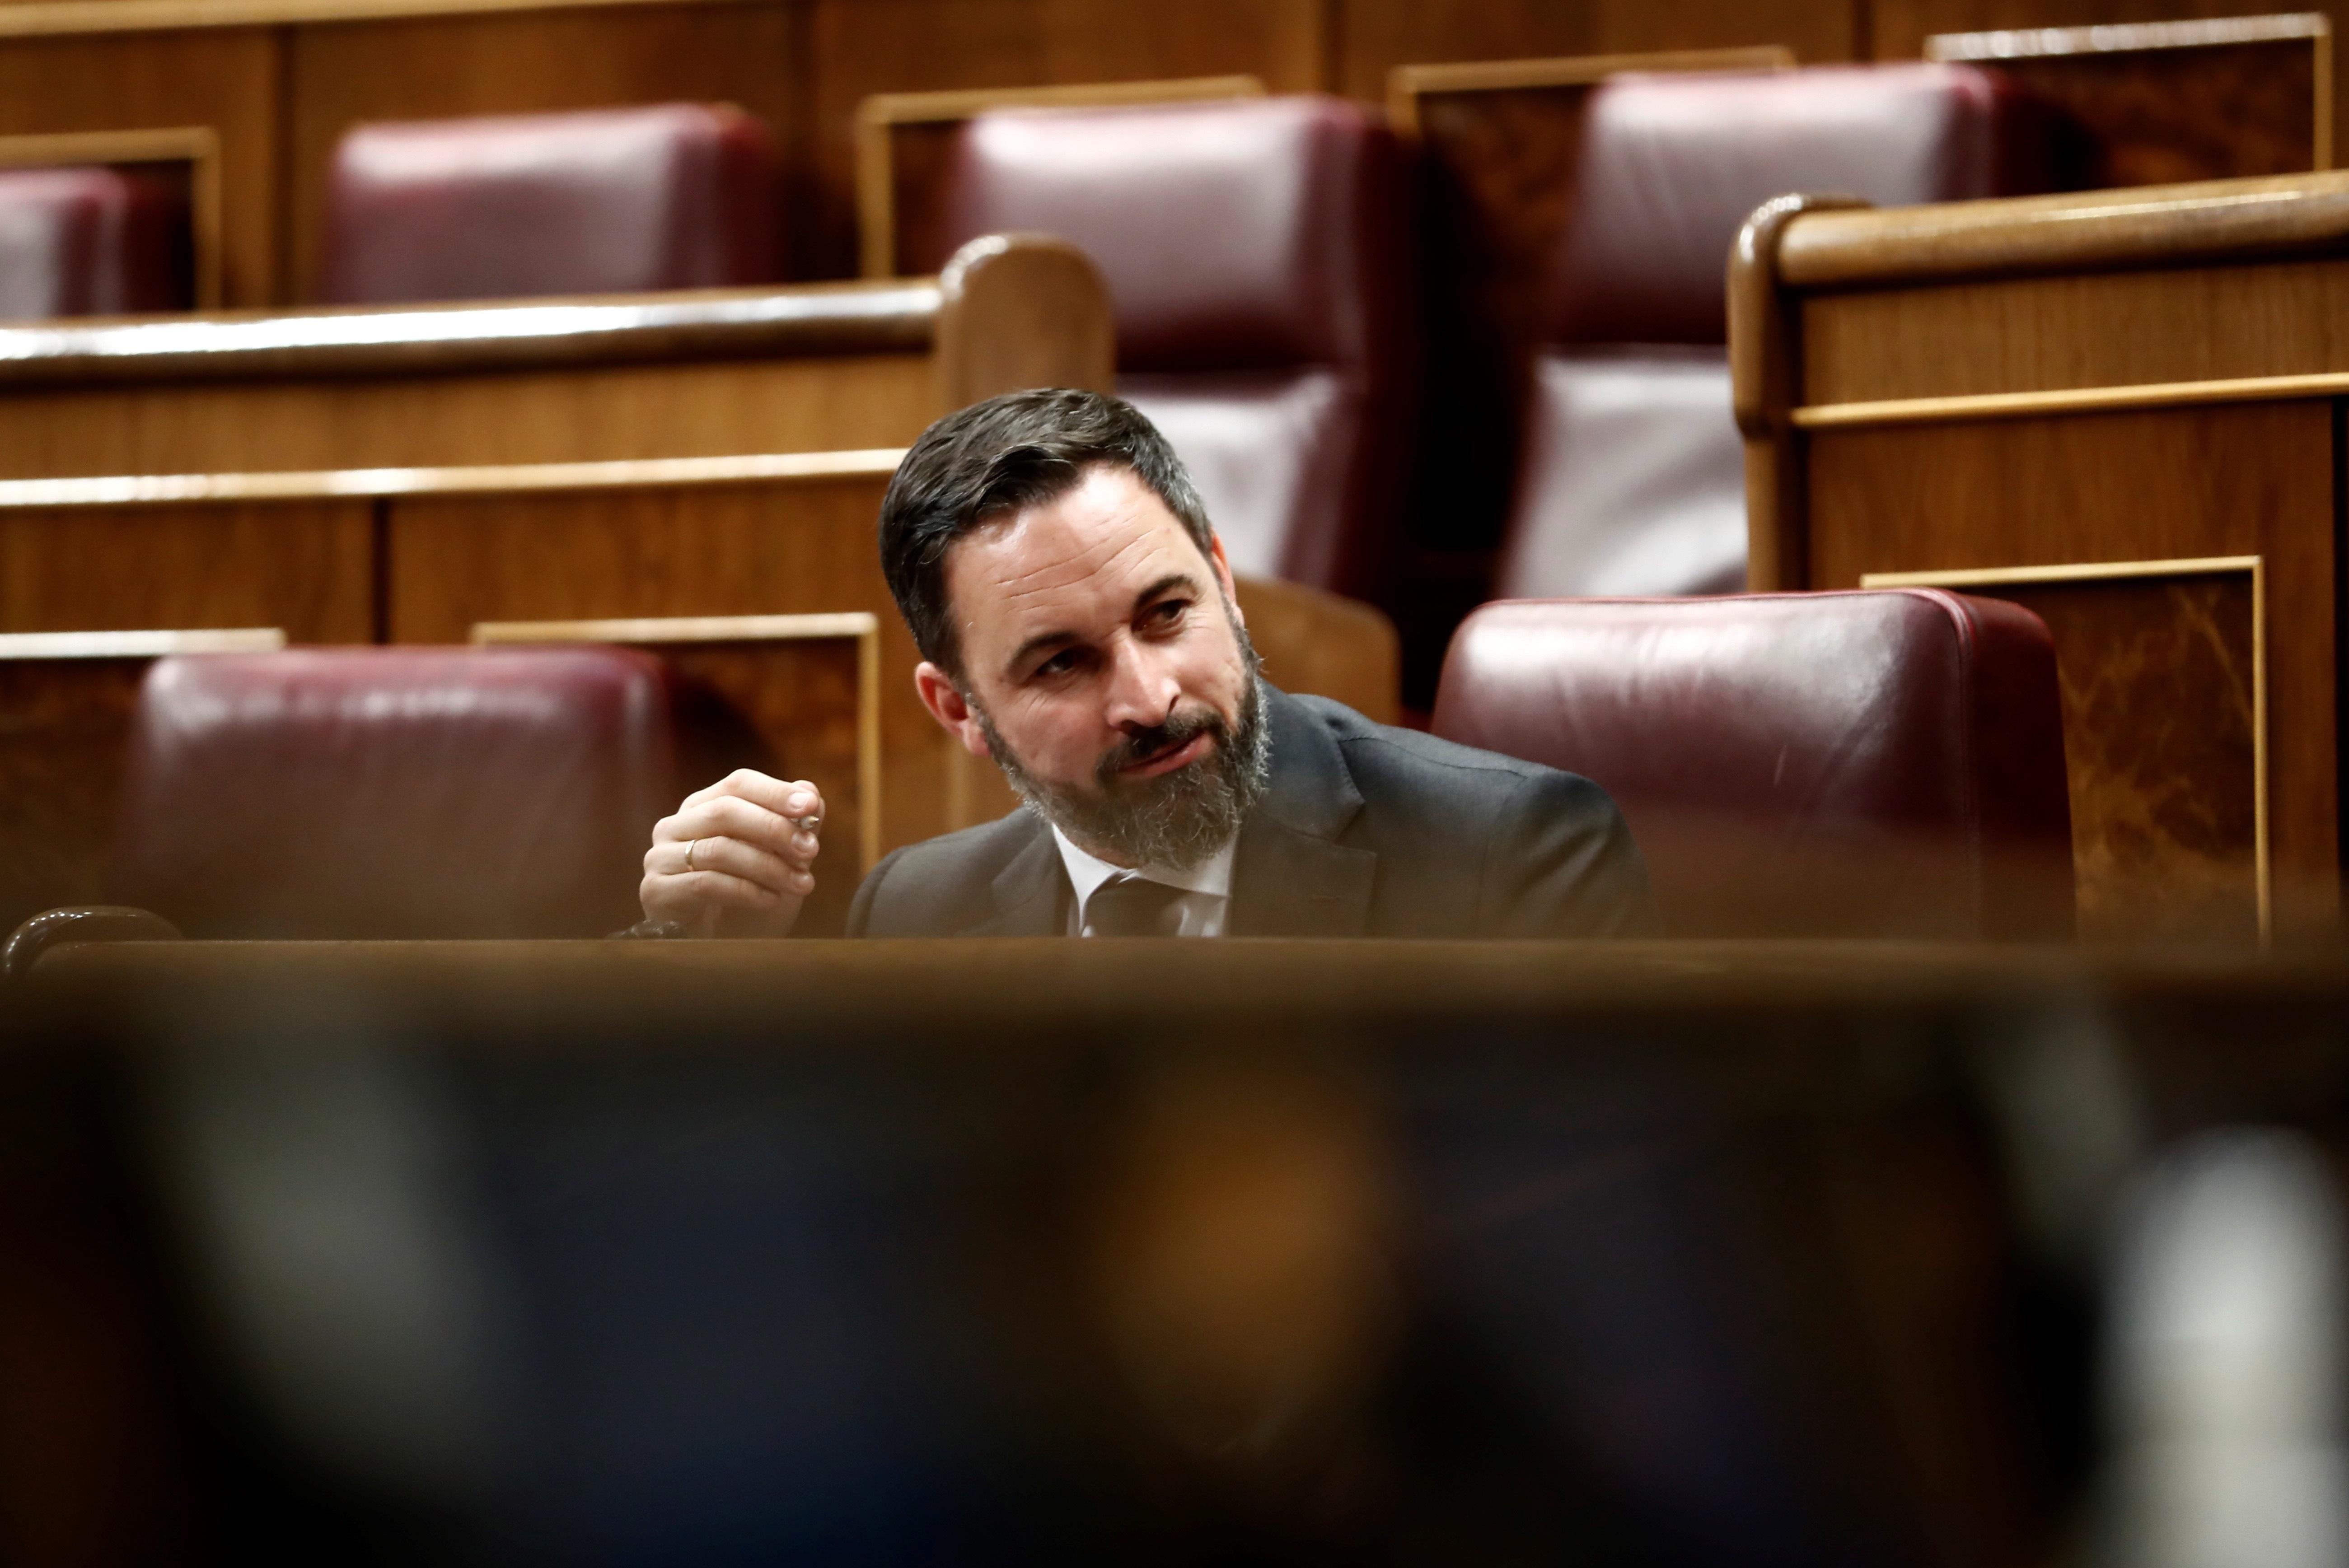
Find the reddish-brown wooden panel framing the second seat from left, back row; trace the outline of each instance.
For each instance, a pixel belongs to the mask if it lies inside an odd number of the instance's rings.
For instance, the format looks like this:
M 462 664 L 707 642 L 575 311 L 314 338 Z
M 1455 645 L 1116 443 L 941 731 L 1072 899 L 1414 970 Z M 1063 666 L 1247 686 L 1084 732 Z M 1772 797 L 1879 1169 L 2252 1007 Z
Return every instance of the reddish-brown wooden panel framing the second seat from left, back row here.
M 289 38 L 289 300 L 317 298 L 329 162 L 364 120 L 735 103 L 789 160 L 792 16 L 770 0 L 312 23 Z

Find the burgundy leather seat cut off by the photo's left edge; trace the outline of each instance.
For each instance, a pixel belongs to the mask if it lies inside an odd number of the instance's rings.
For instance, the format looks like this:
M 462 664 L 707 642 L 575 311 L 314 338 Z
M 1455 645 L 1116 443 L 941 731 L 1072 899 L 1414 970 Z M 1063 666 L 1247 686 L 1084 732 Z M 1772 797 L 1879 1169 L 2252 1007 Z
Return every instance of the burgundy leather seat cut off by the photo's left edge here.
M 193 303 L 181 192 L 120 169 L 0 169 L 0 319 Z

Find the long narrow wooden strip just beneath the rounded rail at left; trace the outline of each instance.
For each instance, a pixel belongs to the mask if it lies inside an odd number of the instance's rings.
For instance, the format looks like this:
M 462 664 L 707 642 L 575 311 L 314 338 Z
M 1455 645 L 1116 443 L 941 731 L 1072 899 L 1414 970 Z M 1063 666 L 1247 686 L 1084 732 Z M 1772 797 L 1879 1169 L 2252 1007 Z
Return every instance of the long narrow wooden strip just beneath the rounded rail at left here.
M 0 397 L 0 477 L 587 462 L 904 446 L 926 354 Z

